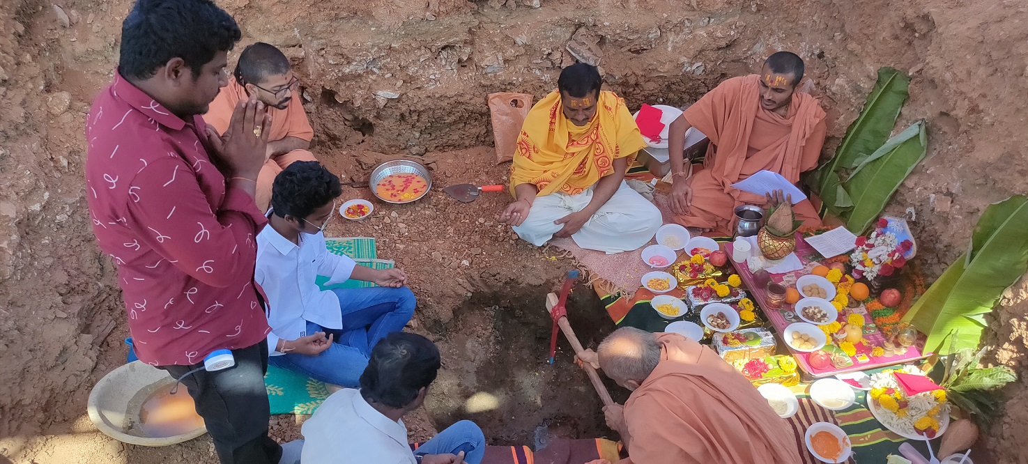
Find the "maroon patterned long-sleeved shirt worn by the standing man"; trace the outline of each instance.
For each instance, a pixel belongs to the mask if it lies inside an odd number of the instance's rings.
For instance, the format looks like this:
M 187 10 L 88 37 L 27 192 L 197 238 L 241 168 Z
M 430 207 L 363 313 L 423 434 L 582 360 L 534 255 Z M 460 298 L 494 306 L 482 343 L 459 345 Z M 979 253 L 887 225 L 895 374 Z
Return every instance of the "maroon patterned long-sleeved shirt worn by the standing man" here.
M 115 74 L 86 119 L 86 196 L 100 248 L 118 264 L 136 353 L 200 362 L 270 332 L 253 285 L 254 199 L 225 189 L 204 119 L 182 120 Z

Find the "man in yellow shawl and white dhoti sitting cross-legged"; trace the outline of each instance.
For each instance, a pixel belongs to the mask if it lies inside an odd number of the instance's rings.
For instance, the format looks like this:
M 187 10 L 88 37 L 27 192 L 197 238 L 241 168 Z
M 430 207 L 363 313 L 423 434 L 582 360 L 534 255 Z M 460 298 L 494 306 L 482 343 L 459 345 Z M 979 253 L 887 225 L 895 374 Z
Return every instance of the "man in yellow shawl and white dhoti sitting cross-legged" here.
M 607 253 L 642 246 L 660 228 L 660 210 L 625 184 L 646 146 L 624 100 L 600 90 L 595 67 L 564 68 L 557 90 L 525 117 L 511 166 L 515 201 L 501 220 L 542 245 L 572 237 Z

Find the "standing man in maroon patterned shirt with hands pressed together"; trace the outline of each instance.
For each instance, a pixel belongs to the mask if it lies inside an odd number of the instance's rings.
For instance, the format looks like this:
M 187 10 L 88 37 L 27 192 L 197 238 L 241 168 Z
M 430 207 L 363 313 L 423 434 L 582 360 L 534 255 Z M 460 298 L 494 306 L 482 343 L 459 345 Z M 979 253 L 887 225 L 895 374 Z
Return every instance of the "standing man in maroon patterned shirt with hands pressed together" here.
M 263 381 L 270 328 L 253 283 L 269 121 L 253 99 L 222 137 L 198 116 L 227 83 L 238 39 L 211 0 L 136 3 L 114 81 L 85 121 L 86 195 L 100 248 L 118 265 L 139 358 L 180 377 L 231 350 L 234 368 L 184 384 L 223 464 L 276 464 Z

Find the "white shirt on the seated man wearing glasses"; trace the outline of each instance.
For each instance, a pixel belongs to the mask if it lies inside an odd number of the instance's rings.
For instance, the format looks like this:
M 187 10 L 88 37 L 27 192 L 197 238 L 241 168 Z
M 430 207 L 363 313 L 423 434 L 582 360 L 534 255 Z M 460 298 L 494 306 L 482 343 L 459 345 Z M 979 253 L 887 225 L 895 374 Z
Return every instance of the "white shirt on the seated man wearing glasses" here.
M 307 334 L 307 321 L 326 328 L 342 328 L 339 298 L 322 292 L 315 279 L 328 276 L 328 283 L 346 281 L 357 263 L 325 247 L 325 234 L 300 234 L 300 244 L 283 237 L 270 225 L 257 234 L 257 266 L 254 280 L 267 295 L 267 335 L 271 356 L 279 339 L 296 340 Z

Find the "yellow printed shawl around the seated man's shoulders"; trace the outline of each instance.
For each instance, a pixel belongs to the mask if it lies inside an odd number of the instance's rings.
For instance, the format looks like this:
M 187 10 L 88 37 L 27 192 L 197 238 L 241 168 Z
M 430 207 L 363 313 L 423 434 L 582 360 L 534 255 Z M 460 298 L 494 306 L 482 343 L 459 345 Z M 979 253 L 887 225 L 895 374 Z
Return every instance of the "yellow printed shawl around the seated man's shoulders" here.
M 511 166 L 511 194 L 520 184 L 534 184 L 539 195 L 581 193 L 614 171 L 613 161 L 646 147 L 625 101 L 600 91 L 596 115 L 579 127 L 564 117 L 560 92 L 554 90 L 528 112 L 521 126 Z

